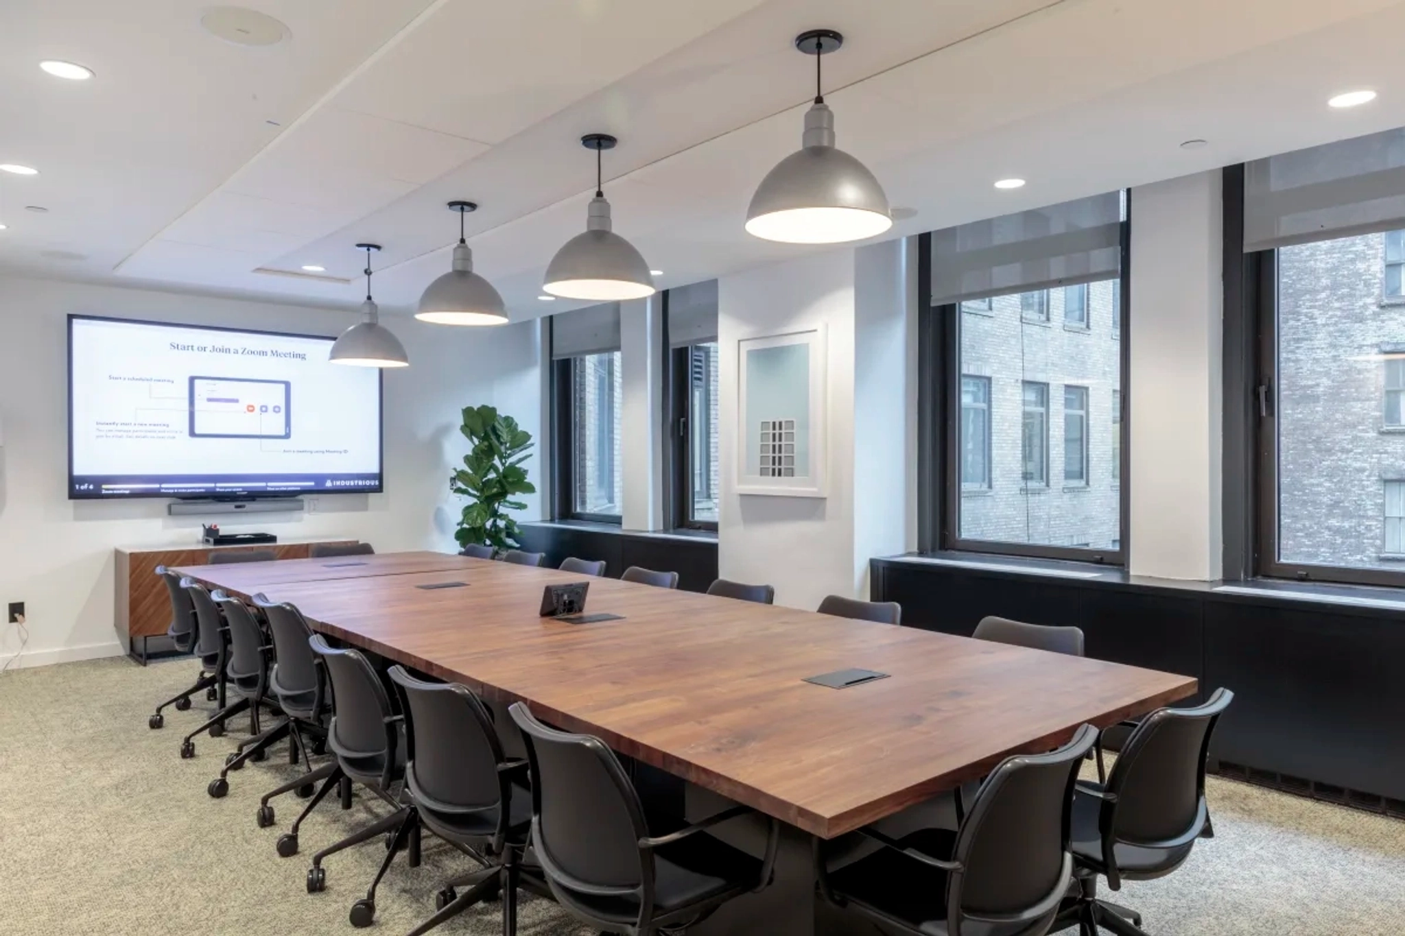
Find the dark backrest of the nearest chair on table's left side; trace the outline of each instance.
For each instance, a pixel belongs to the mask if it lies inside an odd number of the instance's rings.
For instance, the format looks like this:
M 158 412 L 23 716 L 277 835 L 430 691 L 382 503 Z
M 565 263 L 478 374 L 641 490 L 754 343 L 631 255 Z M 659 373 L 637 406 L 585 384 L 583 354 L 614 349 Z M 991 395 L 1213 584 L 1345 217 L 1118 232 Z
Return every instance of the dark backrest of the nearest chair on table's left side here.
M 532 787 L 532 848 L 563 902 L 632 898 L 641 919 L 653 902 L 653 855 L 639 796 L 600 738 L 556 731 L 525 704 L 509 709 L 523 731 Z

